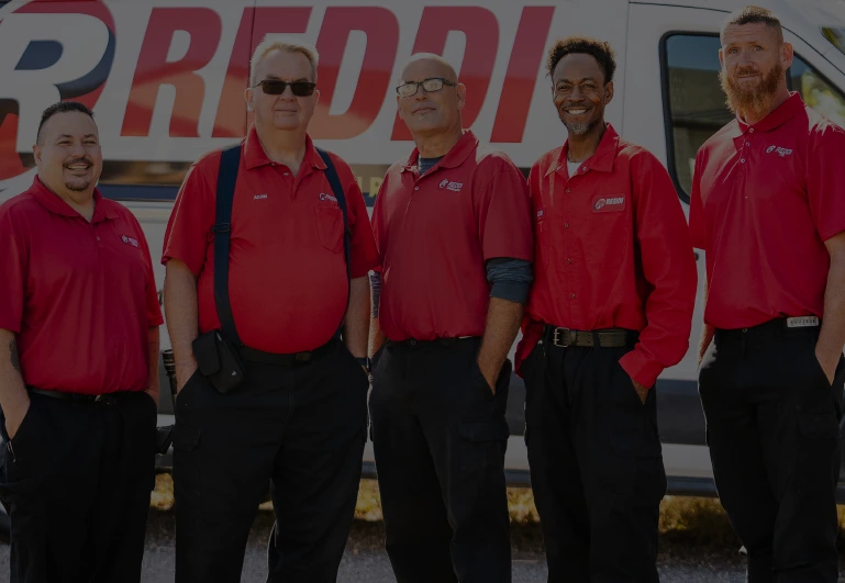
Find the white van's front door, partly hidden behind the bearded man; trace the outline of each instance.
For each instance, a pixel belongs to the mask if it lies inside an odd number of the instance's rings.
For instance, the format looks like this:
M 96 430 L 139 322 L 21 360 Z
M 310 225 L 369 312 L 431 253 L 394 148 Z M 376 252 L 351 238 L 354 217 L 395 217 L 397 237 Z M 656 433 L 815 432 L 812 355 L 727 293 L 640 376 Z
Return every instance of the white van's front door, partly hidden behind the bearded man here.
M 713 9 L 636 2 L 631 5 L 624 135 L 666 164 L 687 213 L 696 154 L 704 141 L 733 119 L 718 77 L 719 30 L 726 15 L 726 11 Z M 812 31 L 802 30 L 799 35 L 789 29 L 790 24 L 783 23 L 785 40 L 796 52 L 788 71 L 790 89 L 799 91 L 810 106 L 845 126 L 842 71 L 804 41 Z M 821 32 L 818 35 L 820 44 L 826 43 Z M 697 250 L 697 261 L 699 293 L 690 348 L 677 367 L 664 373 L 659 410 L 664 440 L 694 448 L 687 453 L 699 459 L 691 463 L 699 463 L 691 468 L 696 474 L 711 471 L 709 460 L 701 459 L 704 427 L 697 391 L 705 276 L 703 251 Z M 670 463 L 686 462 L 675 459 Z M 672 473 L 678 470 L 672 469 Z

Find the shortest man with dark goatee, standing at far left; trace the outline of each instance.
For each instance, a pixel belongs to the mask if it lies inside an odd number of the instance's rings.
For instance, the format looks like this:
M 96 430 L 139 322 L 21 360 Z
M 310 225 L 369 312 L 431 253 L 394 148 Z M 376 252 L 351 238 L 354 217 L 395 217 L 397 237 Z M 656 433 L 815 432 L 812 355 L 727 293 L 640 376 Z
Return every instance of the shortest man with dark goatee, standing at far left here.
M 162 312 L 141 225 L 97 190 L 93 114 L 47 108 L 0 206 L 0 497 L 11 581 L 141 581 Z

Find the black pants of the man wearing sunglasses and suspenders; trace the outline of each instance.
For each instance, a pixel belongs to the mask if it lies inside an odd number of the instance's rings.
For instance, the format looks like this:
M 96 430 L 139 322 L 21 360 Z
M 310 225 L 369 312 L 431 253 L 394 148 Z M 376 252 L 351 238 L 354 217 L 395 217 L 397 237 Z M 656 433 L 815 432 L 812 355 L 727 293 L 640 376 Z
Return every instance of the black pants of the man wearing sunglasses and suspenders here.
M 198 372 L 177 397 L 176 581 L 241 581 L 273 486 L 267 581 L 334 582 L 360 483 L 367 375 L 340 341 L 309 363 L 246 369 L 236 391 L 220 394 Z

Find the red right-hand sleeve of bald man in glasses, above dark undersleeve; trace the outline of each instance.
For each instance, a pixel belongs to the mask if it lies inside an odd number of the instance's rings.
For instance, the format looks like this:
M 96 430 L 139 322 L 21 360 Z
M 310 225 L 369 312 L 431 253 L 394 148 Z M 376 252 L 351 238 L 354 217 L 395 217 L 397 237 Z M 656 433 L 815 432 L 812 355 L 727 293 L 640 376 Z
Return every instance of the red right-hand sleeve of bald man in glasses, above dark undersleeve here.
M 497 167 L 490 168 L 492 178 L 476 193 L 478 234 L 485 260 L 510 257 L 532 261 L 534 235 L 529 184 L 510 160 L 494 159 Z M 482 171 L 480 167 L 478 170 Z

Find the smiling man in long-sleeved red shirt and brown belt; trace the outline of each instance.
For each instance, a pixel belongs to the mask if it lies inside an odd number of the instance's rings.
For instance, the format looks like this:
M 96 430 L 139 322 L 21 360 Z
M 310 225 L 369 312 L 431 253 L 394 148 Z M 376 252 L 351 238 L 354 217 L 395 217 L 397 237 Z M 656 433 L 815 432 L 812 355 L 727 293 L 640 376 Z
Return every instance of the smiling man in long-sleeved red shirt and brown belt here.
M 656 582 L 655 381 L 689 346 L 696 260 L 668 172 L 604 121 L 611 46 L 559 41 L 547 68 L 568 138 L 529 176 L 536 267 L 516 361 L 548 581 Z

